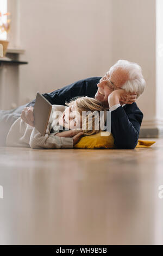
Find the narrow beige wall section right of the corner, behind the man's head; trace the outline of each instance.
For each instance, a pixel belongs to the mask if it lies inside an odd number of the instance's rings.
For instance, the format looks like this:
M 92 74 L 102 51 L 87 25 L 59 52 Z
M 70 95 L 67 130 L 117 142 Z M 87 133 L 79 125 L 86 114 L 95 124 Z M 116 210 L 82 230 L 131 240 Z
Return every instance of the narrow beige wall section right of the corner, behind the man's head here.
M 113 0 L 112 14 L 112 63 L 127 59 L 142 67 L 147 86 L 137 103 L 144 120 L 152 119 L 156 112 L 155 0 Z

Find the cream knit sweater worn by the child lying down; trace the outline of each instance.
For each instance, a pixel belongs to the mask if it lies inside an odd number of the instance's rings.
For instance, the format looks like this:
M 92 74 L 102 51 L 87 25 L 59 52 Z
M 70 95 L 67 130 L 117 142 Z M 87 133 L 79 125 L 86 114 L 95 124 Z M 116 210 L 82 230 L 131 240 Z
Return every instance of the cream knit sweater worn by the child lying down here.
M 45 136 L 42 136 L 39 131 L 25 123 L 21 118 L 18 118 L 10 127 L 7 135 L 7 147 L 25 147 L 33 149 L 55 149 L 55 148 L 73 148 L 73 139 L 55 136 L 59 130 L 55 120 L 52 119 L 54 111 L 64 112 L 65 106 L 53 105 L 52 112 L 49 118 Z M 53 122 L 54 132 L 51 132 Z

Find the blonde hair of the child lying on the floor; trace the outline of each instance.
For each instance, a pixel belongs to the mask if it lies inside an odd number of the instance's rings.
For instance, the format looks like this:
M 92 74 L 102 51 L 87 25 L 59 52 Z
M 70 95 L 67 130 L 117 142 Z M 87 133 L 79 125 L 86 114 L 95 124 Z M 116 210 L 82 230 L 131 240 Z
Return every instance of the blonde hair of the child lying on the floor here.
M 66 102 L 66 105 L 67 106 L 74 105 L 74 107 L 77 109 L 80 115 L 82 115 L 83 111 L 86 111 L 86 112 L 91 111 L 91 113 L 86 115 L 86 118 L 84 119 L 84 124 L 82 123 L 82 126 L 84 126 L 84 130 L 82 129 L 84 135 L 93 135 L 100 131 L 100 128 L 99 128 L 100 120 L 101 120 L 100 112 L 103 111 L 104 117 L 106 115 L 106 109 L 103 107 L 102 102 L 92 97 L 85 96 L 85 97 L 73 98 L 70 102 L 68 103 Z M 97 123 L 98 123 L 98 130 L 96 129 Z M 91 130 L 89 129 L 90 125 L 91 125 Z

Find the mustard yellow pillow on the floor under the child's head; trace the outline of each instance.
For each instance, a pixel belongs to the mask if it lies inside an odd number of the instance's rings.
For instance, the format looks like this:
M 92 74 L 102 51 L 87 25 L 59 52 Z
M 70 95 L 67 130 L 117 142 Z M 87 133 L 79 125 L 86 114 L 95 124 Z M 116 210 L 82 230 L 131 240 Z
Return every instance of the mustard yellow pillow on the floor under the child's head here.
M 139 139 L 136 148 L 151 147 L 155 141 L 142 141 Z M 74 145 L 76 149 L 114 149 L 114 137 L 110 132 L 99 132 L 95 135 L 85 136 Z

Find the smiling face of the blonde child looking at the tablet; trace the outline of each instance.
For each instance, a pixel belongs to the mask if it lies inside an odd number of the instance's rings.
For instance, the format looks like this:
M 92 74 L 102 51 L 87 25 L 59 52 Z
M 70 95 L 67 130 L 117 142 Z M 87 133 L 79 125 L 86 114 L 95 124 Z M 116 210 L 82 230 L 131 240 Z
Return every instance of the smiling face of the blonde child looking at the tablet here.
M 74 104 L 65 109 L 59 119 L 59 124 L 69 130 L 82 127 L 82 117 Z

